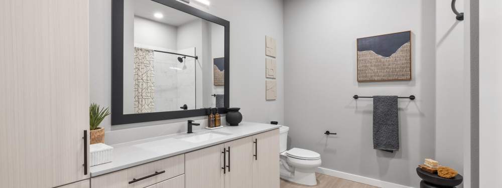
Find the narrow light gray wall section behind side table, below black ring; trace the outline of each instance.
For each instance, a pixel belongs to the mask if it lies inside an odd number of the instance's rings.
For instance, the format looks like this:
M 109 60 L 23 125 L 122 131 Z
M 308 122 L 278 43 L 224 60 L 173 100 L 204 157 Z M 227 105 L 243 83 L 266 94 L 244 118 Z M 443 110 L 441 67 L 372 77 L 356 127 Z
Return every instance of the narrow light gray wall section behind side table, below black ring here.
M 456 2 L 464 12 L 464 1 Z M 457 21 L 451 1 L 436 1 L 436 157 L 464 174 L 464 127 L 470 124 L 470 65 L 464 61 L 465 21 Z M 458 140 L 452 142 L 451 140 Z

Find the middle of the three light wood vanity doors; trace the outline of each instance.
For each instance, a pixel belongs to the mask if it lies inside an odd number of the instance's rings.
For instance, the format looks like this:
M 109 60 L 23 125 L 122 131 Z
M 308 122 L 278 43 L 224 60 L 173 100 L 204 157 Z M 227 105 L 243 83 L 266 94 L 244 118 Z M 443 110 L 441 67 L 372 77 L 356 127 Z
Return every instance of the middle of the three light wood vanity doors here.
M 225 188 L 251 188 L 253 142 L 251 137 L 224 143 L 226 149 Z

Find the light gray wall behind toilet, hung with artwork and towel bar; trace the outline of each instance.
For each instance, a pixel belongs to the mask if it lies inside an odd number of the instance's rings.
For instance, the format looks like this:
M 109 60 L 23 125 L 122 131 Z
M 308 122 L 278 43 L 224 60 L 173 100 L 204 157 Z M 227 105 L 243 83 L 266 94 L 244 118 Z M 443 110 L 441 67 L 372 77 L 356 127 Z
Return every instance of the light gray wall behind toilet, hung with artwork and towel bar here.
M 285 124 L 291 147 L 322 167 L 419 187 L 415 168 L 435 151 L 435 1 L 285 1 Z M 451 11 L 451 10 L 445 10 Z M 357 38 L 412 31 L 412 81 L 356 81 Z M 281 69 L 279 69 L 281 70 Z M 400 150 L 373 149 L 372 100 L 399 100 Z M 326 137 L 323 132 L 337 132 Z

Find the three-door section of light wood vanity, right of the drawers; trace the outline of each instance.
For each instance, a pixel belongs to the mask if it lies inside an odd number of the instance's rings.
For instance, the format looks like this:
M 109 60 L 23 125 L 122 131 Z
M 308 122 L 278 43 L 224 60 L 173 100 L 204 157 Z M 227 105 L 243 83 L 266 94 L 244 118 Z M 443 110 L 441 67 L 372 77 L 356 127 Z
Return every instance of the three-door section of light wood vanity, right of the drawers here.
M 279 129 L 192 151 L 185 156 L 186 188 L 279 187 Z

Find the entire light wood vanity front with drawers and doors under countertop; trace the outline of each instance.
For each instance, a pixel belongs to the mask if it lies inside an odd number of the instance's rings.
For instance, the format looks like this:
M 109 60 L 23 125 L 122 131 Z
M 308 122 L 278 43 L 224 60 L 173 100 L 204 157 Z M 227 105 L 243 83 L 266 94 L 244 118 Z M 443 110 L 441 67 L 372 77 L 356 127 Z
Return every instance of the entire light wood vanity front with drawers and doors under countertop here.
M 92 177 L 91 187 L 279 188 L 279 129 Z

